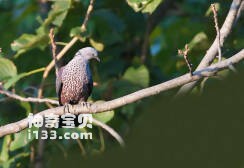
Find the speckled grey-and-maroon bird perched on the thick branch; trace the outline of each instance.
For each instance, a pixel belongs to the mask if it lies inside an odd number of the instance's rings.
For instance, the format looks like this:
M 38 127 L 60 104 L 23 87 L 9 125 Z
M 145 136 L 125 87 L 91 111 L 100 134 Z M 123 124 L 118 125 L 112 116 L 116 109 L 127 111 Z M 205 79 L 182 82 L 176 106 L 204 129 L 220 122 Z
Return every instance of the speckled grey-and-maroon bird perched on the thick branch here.
M 93 79 L 90 60 L 100 62 L 98 52 L 92 47 L 85 47 L 76 52 L 72 60 L 58 69 L 56 92 L 60 106 L 87 102 L 92 93 Z

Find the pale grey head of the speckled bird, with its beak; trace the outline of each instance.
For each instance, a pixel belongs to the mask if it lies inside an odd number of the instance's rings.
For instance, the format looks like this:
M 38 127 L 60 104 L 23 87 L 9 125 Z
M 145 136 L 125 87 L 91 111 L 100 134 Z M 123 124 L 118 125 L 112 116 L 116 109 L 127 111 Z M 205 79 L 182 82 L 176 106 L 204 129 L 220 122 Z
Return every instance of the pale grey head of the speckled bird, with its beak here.
M 98 58 L 97 50 L 95 50 L 92 47 L 85 47 L 80 49 L 75 56 L 80 56 L 85 60 L 91 60 L 96 59 L 98 62 L 100 62 L 100 59 Z

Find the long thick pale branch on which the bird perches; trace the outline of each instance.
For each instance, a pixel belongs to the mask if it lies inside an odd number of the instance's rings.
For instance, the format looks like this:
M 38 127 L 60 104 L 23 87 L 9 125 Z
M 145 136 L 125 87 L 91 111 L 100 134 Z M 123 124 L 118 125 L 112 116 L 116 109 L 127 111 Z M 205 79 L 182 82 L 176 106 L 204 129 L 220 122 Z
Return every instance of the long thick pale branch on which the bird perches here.
M 185 85 L 192 81 L 199 80 L 203 77 L 211 76 L 214 73 L 216 73 L 224 68 L 228 68 L 230 65 L 240 62 L 243 59 L 244 59 L 244 49 L 242 49 L 239 53 L 235 54 L 234 56 L 232 56 L 226 60 L 213 64 L 207 68 L 195 71 L 192 76 L 189 73 L 187 73 L 183 76 L 172 79 L 170 81 L 167 81 L 167 82 L 164 82 L 164 83 L 161 83 L 161 84 L 158 84 L 158 85 L 146 88 L 146 89 L 139 90 L 137 92 L 131 93 L 129 95 L 126 95 L 126 96 L 123 96 L 123 97 L 120 97 L 120 98 L 117 98 L 117 99 L 114 99 L 111 101 L 107 101 L 104 103 L 94 103 L 89 108 L 82 106 L 82 105 L 74 105 L 74 106 L 72 106 L 72 108 L 69 109 L 69 111 L 74 114 L 81 114 L 81 113 L 100 113 L 100 112 L 104 112 L 104 111 L 108 111 L 108 110 L 113 110 L 115 108 L 124 106 L 126 104 L 141 100 L 143 98 L 159 94 L 160 92 Z M 63 112 L 64 112 L 63 107 L 56 107 L 56 108 L 44 110 L 38 114 L 42 115 L 42 116 L 44 116 L 46 114 L 50 114 L 50 113 L 53 113 L 56 115 L 62 115 Z M 15 122 L 15 123 L 11 123 L 11 124 L 2 126 L 2 127 L 0 127 L 0 137 L 2 137 L 4 135 L 19 132 L 19 131 L 27 128 L 27 126 L 28 126 L 27 118 L 20 120 L 18 122 Z

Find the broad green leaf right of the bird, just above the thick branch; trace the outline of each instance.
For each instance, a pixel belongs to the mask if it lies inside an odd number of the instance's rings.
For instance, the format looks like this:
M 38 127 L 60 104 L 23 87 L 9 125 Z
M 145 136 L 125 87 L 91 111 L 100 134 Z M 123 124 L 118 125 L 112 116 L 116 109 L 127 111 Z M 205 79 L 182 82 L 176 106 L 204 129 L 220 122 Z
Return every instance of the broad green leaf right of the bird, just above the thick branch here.
M 147 87 L 149 85 L 149 72 L 144 65 L 141 65 L 138 68 L 129 67 L 125 71 L 122 79 L 142 87 Z

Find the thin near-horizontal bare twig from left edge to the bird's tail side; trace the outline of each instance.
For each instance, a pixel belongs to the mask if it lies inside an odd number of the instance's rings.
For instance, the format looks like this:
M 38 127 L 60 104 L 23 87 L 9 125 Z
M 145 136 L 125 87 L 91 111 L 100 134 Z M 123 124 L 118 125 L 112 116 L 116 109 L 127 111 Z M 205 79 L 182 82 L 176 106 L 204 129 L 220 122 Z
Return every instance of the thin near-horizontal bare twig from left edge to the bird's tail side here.
M 48 99 L 48 98 L 36 98 L 36 97 L 21 97 L 15 93 L 6 91 L 6 90 L 0 90 L 0 94 L 3 94 L 5 96 L 8 96 L 12 99 L 16 99 L 19 101 L 23 101 L 23 102 L 32 102 L 32 103 L 51 103 L 51 104 L 55 104 L 55 105 L 59 105 L 58 101 L 56 100 L 52 100 L 52 99 Z

